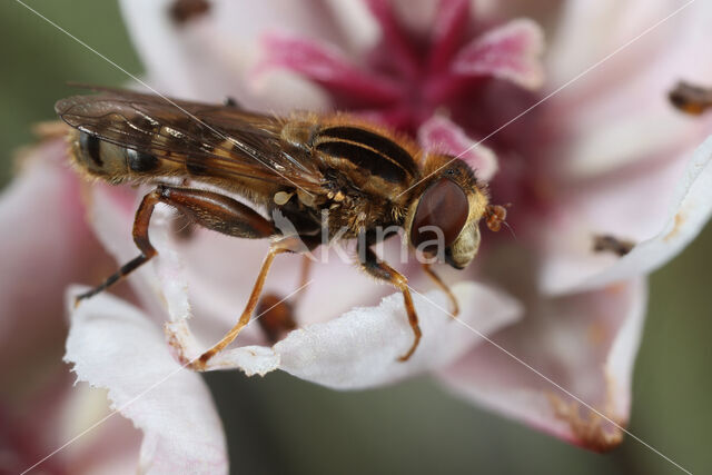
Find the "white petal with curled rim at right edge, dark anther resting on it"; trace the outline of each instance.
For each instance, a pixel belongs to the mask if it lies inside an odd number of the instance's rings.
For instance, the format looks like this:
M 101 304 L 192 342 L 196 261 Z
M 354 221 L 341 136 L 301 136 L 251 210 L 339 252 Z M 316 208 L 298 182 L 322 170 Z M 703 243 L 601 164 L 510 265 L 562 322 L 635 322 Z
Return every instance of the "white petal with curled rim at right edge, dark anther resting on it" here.
M 581 212 L 576 205 L 568 219 L 552 225 L 541 274 L 544 291 L 580 291 L 647 274 L 694 239 L 712 215 L 712 137 L 695 150 L 684 174 L 676 171 L 680 164 L 672 165 L 672 170 L 664 167 L 643 180 L 626 179 L 584 195 L 581 202 L 591 212 Z M 665 194 L 671 177 L 680 175 L 674 192 Z M 637 241 L 630 254 L 617 258 L 593 253 L 593 238 L 599 235 Z

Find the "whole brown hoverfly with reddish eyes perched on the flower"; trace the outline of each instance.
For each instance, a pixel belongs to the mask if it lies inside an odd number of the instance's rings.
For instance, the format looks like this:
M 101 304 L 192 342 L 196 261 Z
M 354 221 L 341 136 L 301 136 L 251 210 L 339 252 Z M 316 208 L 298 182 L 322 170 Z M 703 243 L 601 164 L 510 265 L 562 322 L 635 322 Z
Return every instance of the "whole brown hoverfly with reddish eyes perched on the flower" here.
M 70 133 L 75 167 L 112 185 L 155 188 L 144 197 L 134 221 L 140 254 L 80 295 L 78 303 L 156 256 L 148 228 L 159 202 L 214 231 L 271 239 L 237 324 L 192 362 L 194 369 L 204 369 L 247 325 L 274 258 L 314 249 L 323 235 L 327 241 L 357 239 L 360 268 L 400 290 L 414 335 L 412 346 L 399 357 L 407 360 L 421 340 L 418 317 L 407 278 L 372 249 L 385 238 L 376 230 L 403 227 L 409 245 L 427 256 L 437 256 L 433 243 L 438 238 L 441 260 L 463 269 L 477 253 L 481 219 L 498 229 L 506 217 L 504 207 L 490 204 L 486 185 L 463 160 L 424 152 L 409 139 L 353 116 L 295 112 L 280 118 L 243 110 L 234 101 L 208 105 L 92 89 L 97 93 L 56 105 L 59 117 L 75 129 Z M 255 208 L 287 218 L 297 236 L 286 238 L 274 219 Z M 456 310 L 447 286 L 429 264 L 423 267 Z

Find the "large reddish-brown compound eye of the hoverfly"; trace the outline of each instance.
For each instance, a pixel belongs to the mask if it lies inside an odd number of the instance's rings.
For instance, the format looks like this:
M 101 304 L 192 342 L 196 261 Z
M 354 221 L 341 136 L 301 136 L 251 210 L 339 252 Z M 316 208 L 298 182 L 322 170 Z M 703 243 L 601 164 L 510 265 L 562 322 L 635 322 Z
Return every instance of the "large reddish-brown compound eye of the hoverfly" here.
M 425 190 L 421 197 L 413 227 L 411 228 L 411 241 L 416 248 L 425 241 L 437 241 L 437 232 L 433 227 L 439 228 L 445 238 L 445 247 L 453 244 L 467 222 L 469 204 L 463 189 L 452 180 L 443 178 Z M 437 251 L 437 249 L 422 249 L 424 251 Z M 432 247 L 436 247 L 433 244 Z

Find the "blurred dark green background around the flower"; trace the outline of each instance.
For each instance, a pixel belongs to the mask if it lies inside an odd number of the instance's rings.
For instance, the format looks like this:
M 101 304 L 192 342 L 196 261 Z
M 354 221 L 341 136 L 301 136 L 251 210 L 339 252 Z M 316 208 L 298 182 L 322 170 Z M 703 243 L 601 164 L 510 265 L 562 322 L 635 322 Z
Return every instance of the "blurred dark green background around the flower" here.
M 134 73 L 115 2 L 36 0 L 52 21 Z M 127 78 L 50 24 L 0 3 L 0 166 L 52 119 L 69 80 L 121 85 Z M 649 318 L 635 367 L 630 431 L 693 473 L 712 473 L 712 228 L 652 276 Z M 427 378 L 336 393 L 285 374 L 206 376 L 218 402 L 235 473 L 681 473 L 639 442 L 596 455 L 472 407 Z

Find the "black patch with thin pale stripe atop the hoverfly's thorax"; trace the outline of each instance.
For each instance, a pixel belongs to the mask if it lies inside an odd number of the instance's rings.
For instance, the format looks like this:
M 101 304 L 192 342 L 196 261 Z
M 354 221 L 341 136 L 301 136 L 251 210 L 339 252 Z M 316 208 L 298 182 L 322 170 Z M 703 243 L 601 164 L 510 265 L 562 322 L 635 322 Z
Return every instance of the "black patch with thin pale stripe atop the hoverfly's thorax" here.
M 408 184 L 418 174 L 413 156 L 405 148 L 365 128 L 324 128 L 314 137 L 313 147 L 335 162 L 333 165 L 345 160 L 389 185 Z

